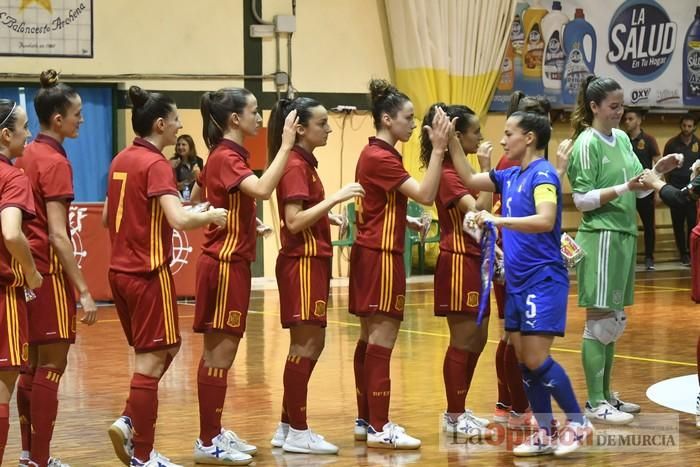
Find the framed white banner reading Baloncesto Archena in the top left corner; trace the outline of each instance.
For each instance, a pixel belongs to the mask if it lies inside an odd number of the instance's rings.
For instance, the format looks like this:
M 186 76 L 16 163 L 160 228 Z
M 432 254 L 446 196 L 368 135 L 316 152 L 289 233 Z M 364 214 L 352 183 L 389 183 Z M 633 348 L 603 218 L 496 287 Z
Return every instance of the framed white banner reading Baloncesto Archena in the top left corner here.
M 92 0 L 0 0 L 0 55 L 92 58 Z

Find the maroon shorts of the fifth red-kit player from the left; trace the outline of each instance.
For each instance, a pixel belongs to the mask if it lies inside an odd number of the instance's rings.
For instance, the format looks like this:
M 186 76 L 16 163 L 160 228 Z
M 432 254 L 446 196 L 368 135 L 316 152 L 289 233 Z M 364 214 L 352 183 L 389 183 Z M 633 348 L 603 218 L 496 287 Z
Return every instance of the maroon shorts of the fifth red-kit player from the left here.
M 325 327 L 331 258 L 278 255 L 275 274 L 282 327 L 297 324 Z

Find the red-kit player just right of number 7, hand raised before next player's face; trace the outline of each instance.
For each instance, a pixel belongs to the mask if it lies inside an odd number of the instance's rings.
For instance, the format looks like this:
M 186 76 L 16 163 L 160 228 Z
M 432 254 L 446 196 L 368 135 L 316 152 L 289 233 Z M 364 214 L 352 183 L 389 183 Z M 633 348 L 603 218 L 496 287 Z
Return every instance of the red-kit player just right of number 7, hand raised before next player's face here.
M 296 135 L 296 112 L 284 122 L 276 157 L 259 178 L 249 164 L 243 140 L 258 132 L 262 117 L 247 89 L 206 92 L 201 100 L 204 142 L 209 158 L 197 180 L 193 197 L 203 192 L 212 206 L 226 208 L 223 228 L 205 232 L 197 261 L 193 329 L 202 333 L 204 351 L 197 372 L 199 438 L 195 462 L 231 465 L 252 462 L 257 448 L 221 426 L 233 365 L 243 337 L 250 302 L 251 270 L 257 241 L 256 199 L 269 199 L 284 172 Z

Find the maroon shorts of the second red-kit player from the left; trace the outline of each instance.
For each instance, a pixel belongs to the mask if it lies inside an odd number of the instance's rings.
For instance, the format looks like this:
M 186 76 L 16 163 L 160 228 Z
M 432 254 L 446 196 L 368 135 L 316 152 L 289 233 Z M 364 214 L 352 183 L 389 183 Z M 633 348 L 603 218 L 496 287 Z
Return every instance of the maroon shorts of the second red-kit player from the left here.
M 75 343 L 75 292 L 65 273 L 46 274 L 36 298 L 27 303 L 29 343 Z

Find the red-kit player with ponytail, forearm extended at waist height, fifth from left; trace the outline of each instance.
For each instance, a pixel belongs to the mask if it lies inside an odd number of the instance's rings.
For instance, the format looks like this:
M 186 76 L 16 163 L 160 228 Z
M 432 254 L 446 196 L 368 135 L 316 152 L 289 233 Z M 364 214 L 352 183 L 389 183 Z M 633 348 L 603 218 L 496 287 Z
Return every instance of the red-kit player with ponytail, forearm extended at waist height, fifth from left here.
M 284 119 L 292 111 L 296 111 L 299 122 L 295 145 L 277 185 L 282 249 L 276 267 L 280 318 L 282 327 L 289 329 L 290 344 L 284 367 L 282 419 L 271 443 L 287 452 L 335 454 L 337 446 L 314 433 L 306 423 L 307 391 L 326 335 L 333 255 L 330 224 L 331 219 L 338 219 L 330 210 L 338 203 L 363 196 L 364 190 L 359 183 L 350 183 L 325 198 L 313 151 L 326 145 L 331 128 L 328 111 L 314 99 L 282 99 L 275 105 L 268 123 L 270 154 L 279 150 Z

